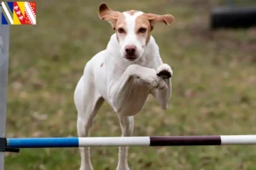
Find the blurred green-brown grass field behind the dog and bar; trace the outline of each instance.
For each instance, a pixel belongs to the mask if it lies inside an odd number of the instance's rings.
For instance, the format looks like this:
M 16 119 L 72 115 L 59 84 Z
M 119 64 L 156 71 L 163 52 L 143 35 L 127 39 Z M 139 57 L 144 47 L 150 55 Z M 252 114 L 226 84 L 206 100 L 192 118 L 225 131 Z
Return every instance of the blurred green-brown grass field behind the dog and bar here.
M 256 5 L 255 0 L 233 1 Z M 73 91 L 84 65 L 113 34 L 99 20 L 102 1 L 37 1 L 37 26 L 11 26 L 7 136 L 77 136 Z M 224 0 L 105 1 L 113 10 L 172 14 L 152 32 L 172 66 L 172 99 L 163 111 L 150 96 L 135 116 L 134 136 L 256 133 L 256 27 L 211 31 L 212 8 Z M 253 19 L 255 20 L 255 18 Z M 120 136 L 105 103 L 90 136 Z M 92 148 L 95 170 L 116 168 L 118 148 Z M 255 146 L 131 147 L 131 170 L 254 170 Z M 79 149 L 7 153 L 7 170 L 79 169 Z

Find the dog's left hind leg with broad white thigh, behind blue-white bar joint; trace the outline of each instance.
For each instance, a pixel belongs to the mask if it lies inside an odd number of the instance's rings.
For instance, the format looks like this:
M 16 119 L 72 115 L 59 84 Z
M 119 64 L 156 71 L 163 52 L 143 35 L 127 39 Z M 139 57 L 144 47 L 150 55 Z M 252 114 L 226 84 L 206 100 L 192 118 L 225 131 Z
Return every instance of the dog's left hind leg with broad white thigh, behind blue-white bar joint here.
M 78 111 L 78 134 L 79 137 L 88 137 L 96 112 L 100 109 L 104 99 L 96 91 L 91 81 L 91 76 L 84 75 L 79 80 L 74 94 L 75 105 Z M 92 170 L 90 162 L 90 148 L 80 147 L 81 167 L 80 170 Z

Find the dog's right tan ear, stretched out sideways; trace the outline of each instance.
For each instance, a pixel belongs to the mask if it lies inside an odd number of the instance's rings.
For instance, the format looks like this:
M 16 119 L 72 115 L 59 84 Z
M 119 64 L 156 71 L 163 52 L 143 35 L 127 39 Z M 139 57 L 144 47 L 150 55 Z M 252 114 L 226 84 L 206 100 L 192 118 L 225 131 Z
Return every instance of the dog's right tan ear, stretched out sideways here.
M 154 24 L 157 22 L 163 22 L 166 25 L 170 25 L 175 20 L 172 14 L 164 14 L 164 15 L 144 14 L 144 15 L 147 17 L 148 21 L 150 22 L 151 30 L 153 30 Z

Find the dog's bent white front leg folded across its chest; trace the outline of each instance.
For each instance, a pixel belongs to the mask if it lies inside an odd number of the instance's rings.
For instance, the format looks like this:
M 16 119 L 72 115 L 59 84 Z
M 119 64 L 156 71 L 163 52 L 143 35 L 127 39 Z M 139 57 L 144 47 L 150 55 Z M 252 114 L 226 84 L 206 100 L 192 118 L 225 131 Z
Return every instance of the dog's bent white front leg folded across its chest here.
M 125 99 L 128 99 L 131 94 L 134 79 L 136 78 L 143 79 L 153 88 L 166 88 L 164 79 L 156 74 L 154 69 L 140 65 L 129 65 L 119 79 L 115 78 L 114 71 L 111 75 L 108 75 L 108 100 L 113 110 L 117 113 L 122 110 Z

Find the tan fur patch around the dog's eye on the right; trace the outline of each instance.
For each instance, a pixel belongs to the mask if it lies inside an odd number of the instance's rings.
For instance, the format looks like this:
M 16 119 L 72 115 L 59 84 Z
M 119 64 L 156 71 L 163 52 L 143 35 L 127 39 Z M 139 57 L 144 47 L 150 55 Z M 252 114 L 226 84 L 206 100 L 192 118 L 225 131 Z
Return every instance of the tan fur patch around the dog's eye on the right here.
M 137 17 L 135 31 L 137 32 L 141 27 L 144 27 L 147 29 L 147 31 L 144 34 L 147 35 L 146 44 L 148 44 L 148 42 L 150 40 L 150 32 L 151 32 L 152 28 L 150 26 L 150 22 L 148 21 L 148 18 L 144 14 L 139 15 Z M 137 36 L 140 36 L 141 34 L 142 33 L 137 32 Z

